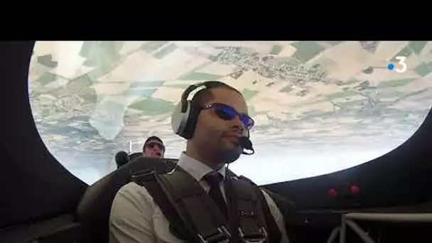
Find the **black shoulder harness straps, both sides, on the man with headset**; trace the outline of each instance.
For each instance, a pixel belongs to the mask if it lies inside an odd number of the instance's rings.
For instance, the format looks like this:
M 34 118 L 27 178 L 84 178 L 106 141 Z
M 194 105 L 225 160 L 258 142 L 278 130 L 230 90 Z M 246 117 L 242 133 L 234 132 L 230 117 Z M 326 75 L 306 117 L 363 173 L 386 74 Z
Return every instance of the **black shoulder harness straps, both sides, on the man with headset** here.
M 133 175 L 132 180 L 146 187 L 170 222 L 171 232 L 179 239 L 200 243 L 228 242 L 231 235 L 227 230 L 227 219 L 198 181 L 188 173 L 181 169 L 163 175 L 148 171 Z M 279 228 L 261 190 L 250 180 L 237 178 L 232 180 L 232 188 L 236 192 L 242 242 L 280 242 Z M 268 217 L 276 225 L 279 241 L 274 241 L 275 237 L 271 235 L 274 230 L 270 229 L 270 234 L 267 234 L 267 225 L 271 225 Z

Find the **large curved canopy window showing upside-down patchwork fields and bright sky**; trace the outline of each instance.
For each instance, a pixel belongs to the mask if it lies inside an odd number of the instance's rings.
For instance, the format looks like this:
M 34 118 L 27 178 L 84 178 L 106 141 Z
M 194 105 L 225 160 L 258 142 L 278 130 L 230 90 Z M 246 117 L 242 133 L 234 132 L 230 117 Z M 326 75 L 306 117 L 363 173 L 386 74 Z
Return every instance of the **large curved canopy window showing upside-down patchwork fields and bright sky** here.
M 396 57 L 405 57 L 405 72 Z M 432 43 L 425 41 L 38 42 L 29 93 L 45 145 L 92 183 L 119 150 L 149 135 L 177 158 L 185 141 L 170 114 L 188 85 L 240 90 L 256 121 L 257 153 L 232 164 L 257 183 L 338 171 L 389 152 L 432 104 Z

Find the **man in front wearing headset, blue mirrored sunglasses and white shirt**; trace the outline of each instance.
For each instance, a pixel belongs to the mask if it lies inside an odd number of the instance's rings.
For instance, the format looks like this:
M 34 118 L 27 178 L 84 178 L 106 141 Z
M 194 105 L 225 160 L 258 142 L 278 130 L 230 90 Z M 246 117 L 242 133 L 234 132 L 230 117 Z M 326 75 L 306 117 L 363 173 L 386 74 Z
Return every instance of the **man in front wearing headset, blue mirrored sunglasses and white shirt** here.
M 205 89 L 198 91 L 193 99 L 188 101 L 189 93 L 200 86 L 205 86 Z M 254 121 L 247 115 L 247 104 L 242 94 L 221 82 L 192 85 L 183 93 L 182 101 L 173 113 L 172 125 L 175 133 L 188 142 L 177 165 L 199 183 L 220 207 L 220 212 L 225 212 L 226 215 L 225 202 L 228 201 L 229 194 L 226 193 L 223 182 L 228 171 L 225 163 L 239 158 L 240 139 L 245 131 L 252 129 Z M 216 183 L 215 180 L 210 182 L 209 175 L 218 178 Z M 277 243 L 288 242 L 281 211 L 267 193 L 261 193 L 265 198 L 263 201 L 268 205 L 267 212 L 271 214 L 269 217 L 274 219 L 273 224 L 280 232 Z M 191 242 L 190 239 L 179 239 L 178 235 L 174 234 L 170 225 L 172 222 L 168 222 L 166 214 L 150 194 L 146 188 L 136 183 L 124 185 L 119 190 L 112 204 L 109 242 Z M 232 221 L 231 218 L 229 220 Z M 271 238 L 271 234 L 269 237 Z M 205 241 L 217 242 L 207 239 Z M 238 239 L 235 239 L 235 242 L 237 241 Z M 271 240 L 267 238 L 266 242 Z

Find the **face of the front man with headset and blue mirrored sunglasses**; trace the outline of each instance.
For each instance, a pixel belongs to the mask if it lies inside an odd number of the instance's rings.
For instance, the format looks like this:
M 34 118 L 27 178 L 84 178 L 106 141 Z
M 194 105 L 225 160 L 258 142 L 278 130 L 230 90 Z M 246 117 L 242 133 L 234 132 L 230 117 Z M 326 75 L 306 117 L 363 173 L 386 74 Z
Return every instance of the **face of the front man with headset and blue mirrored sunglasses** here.
M 244 98 L 234 90 L 215 88 L 211 90 L 212 100 L 205 105 L 222 104 L 234 110 L 234 118 L 227 119 L 218 107 L 202 109 L 198 116 L 193 140 L 201 149 L 210 153 L 224 153 L 239 148 L 239 138 L 245 129 L 238 114 L 247 114 Z M 219 106 L 220 108 L 220 106 Z

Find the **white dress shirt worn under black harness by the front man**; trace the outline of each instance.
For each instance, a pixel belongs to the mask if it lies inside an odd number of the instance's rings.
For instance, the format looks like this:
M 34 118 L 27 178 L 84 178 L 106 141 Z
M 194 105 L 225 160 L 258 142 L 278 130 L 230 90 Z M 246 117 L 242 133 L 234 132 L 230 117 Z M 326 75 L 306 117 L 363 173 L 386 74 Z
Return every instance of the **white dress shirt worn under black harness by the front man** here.
M 185 153 L 181 154 L 178 166 L 192 175 L 195 180 L 198 180 L 205 191 L 210 190 L 210 186 L 202 178 L 210 173 L 212 168 Z M 225 166 L 218 172 L 225 176 Z M 225 198 L 225 188 L 223 183 L 220 184 L 222 195 Z M 263 194 L 269 205 L 271 215 L 273 215 L 281 231 L 281 243 L 288 243 L 281 211 L 267 193 L 263 191 Z M 156 205 L 144 186 L 131 182 L 121 187 L 117 192 L 112 202 L 109 217 L 110 243 L 185 242 L 171 234 L 169 226 L 170 223 L 163 215 L 161 208 Z

